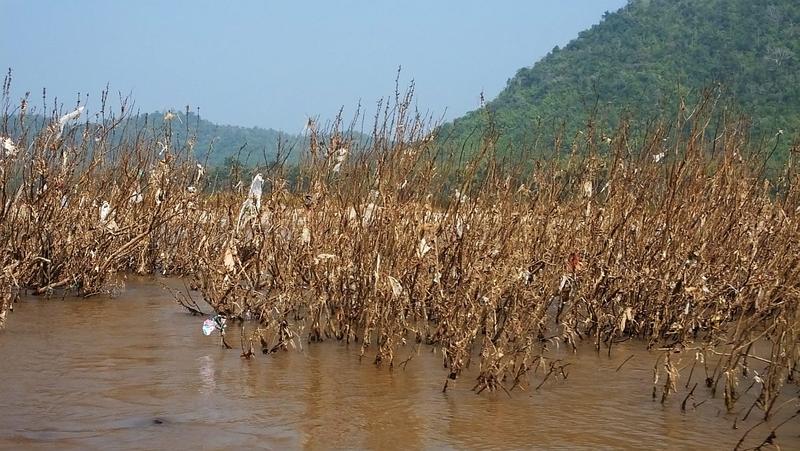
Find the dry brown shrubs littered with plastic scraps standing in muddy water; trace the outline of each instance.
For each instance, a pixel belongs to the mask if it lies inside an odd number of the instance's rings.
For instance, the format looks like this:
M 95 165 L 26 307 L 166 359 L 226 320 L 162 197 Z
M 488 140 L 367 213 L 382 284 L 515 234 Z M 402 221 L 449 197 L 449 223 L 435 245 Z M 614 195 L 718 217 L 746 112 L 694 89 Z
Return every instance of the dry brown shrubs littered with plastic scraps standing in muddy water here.
M 28 133 L 9 83 L 0 324 L 20 293 L 91 296 L 163 274 L 241 328 L 223 343 L 243 358 L 339 340 L 406 368 L 426 348 L 444 390 L 473 367 L 476 392 L 511 393 L 567 377 L 556 348 L 638 340 L 662 403 L 681 392 L 691 408 L 705 390 L 734 411 L 752 392 L 742 415 L 798 409 L 797 143 L 712 120 L 713 93 L 645 129 L 590 121 L 530 154 L 500 152 L 486 116 L 468 154 L 437 139 L 412 89 L 380 106 L 370 139 L 312 121 L 299 166 L 221 189 L 191 139 L 173 144 L 171 118 L 122 130 L 124 106 L 86 119 L 77 105 Z M 767 178 L 779 145 L 793 151 Z

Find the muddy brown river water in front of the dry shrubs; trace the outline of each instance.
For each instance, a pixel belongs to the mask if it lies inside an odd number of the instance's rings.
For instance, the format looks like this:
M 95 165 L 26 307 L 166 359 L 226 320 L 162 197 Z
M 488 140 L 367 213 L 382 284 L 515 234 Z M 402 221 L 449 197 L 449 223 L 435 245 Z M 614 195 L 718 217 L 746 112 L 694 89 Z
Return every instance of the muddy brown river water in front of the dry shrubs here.
M 509 397 L 476 395 L 474 373 L 442 393 L 446 372 L 426 347 L 393 371 L 336 342 L 245 360 L 202 321 L 153 281 L 113 299 L 24 299 L 0 332 L 0 448 L 730 449 L 755 424 L 732 429 L 720 399 L 681 413 L 684 380 L 654 402 L 656 354 L 641 344 L 611 358 L 582 350 L 566 381 L 533 390 L 540 374 Z M 798 423 L 778 431 L 783 449 L 800 449 Z

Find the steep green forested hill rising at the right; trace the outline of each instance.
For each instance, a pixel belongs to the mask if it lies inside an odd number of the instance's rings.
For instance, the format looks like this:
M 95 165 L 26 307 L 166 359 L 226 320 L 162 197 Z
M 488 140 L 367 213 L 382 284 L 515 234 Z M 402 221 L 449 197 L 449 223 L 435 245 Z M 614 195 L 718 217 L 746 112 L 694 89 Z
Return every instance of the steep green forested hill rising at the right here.
M 501 144 L 552 136 L 586 123 L 611 125 L 675 111 L 720 83 L 754 130 L 800 132 L 800 3 L 797 0 L 632 0 L 562 49 L 517 71 L 486 104 Z M 443 132 L 463 141 L 485 129 L 477 110 Z M 538 124 L 538 125 L 537 125 Z M 475 133 L 477 131 L 477 133 Z

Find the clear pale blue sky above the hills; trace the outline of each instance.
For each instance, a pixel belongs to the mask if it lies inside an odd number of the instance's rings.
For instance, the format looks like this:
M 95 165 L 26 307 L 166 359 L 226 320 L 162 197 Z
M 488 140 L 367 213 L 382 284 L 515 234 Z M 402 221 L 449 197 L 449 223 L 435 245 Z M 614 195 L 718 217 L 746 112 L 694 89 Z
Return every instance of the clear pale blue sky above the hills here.
M 0 67 L 12 93 L 131 94 L 141 111 L 200 108 L 212 121 L 299 132 L 308 115 L 375 102 L 416 82 L 447 119 L 491 99 L 517 69 L 625 0 L 0 0 Z M 116 96 L 116 94 L 114 94 Z

